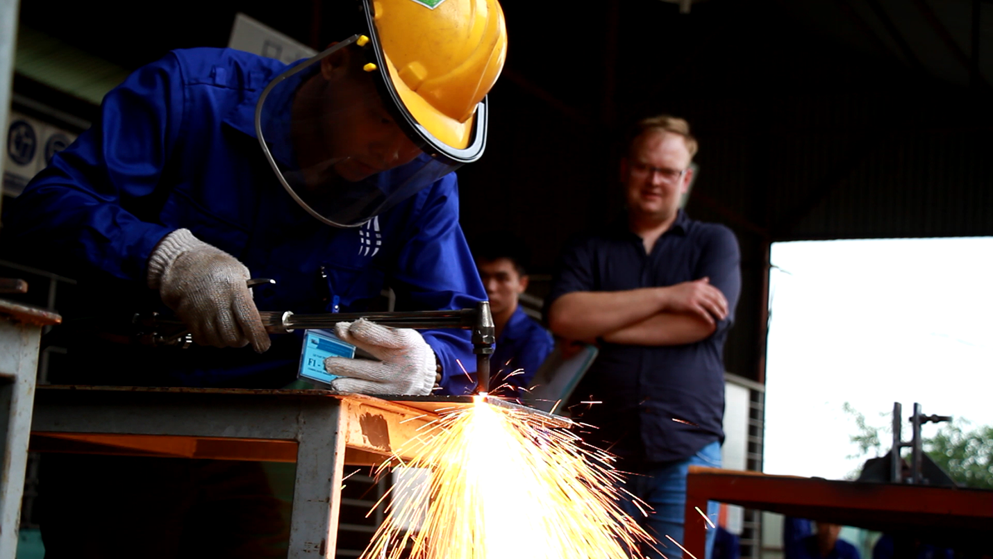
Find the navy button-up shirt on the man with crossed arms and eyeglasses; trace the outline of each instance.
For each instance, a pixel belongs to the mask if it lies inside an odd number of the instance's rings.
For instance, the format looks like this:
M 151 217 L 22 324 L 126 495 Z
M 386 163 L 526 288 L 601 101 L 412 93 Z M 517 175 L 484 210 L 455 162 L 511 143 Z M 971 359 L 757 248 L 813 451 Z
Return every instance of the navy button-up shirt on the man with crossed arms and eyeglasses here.
M 739 261 L 731 229 L 690 219 L 682 210 L 650 254 L 627 219 L 567 245 L 548 305 L 576 291 L 665 287 L 708 277 L 730 309 L 714 334 L 695 344 L 601 344 L 571 406 L 574 417 L 597 427 L 585 435 L 589 442 L 609 449 L 627 467 L 684 460 L 723 442 L 723 352 L 741 292 Z

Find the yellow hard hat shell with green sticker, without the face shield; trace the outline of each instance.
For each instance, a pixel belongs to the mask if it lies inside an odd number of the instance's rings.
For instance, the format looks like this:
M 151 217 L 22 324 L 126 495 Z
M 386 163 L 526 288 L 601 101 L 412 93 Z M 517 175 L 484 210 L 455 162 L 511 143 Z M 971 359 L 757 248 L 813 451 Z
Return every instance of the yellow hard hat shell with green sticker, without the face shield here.
M 475 161 L 485 144 L 485 97 L 506 59 L 497 0 L 363 0 L 363 7 L 378 65 L 369 70 L 388 76 L 389 96 L 436 151 Z

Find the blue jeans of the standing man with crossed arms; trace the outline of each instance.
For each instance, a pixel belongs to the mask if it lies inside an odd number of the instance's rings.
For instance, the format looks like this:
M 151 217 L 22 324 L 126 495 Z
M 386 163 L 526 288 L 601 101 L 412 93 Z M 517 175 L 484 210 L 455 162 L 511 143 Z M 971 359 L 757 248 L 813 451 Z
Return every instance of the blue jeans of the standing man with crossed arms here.
M 642 528 L 659 543 L 655 544 L 657 551 L 644 546 L 644 556 L 649 559 L 659 559 L 660 553 L 668 559 L 678 559 L 683 555 L 681 549 L 672 543 L 666 535 L 683 545 L 683 514 L 686 506 L 686 473 L 690 466 L 706 466 L 720 468 L 721 444 L 717 441 L 703 447 L 698 453 L 680 462 L 668 462 L 662 465 L 646 465 L 628 476 L 624 489 L 631 491 L 651 507 L 648 515 L 644 516 L 638 507 L 631 502 L 631 497 L 621 499 L 621 506 L 628 514 L 638 521 Z M 717 523 L 718 503 L 707 502 L 707 516 Z M 714 547 L 715 530 L 707 530 L 707 558 L 711 556 Z M 689 559 L 686 556 L 686 559 Z M 697 559 L 705 559 L 697 557 Z

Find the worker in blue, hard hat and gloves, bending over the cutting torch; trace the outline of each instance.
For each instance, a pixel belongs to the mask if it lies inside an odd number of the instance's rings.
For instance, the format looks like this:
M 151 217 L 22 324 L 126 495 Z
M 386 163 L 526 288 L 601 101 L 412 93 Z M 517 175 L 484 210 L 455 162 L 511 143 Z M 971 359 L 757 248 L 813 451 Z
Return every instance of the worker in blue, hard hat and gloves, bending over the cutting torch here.
M 294 65 L 194 49 L 136 70 L 15 201 L 13 244 L 78 281 L 54 382 L 276 388 L 301 338 L 270 338 L 258 309 L 362 311 L 387 286 L 397 310 L 486 299 L 453 172 L 484 151 L 497 1 L 352 0 L 335 18 L 355 35 Z M 195 344 L 136 344 L 138 311 Z M 465 331 L 337 331 L 381 359 L 330 359 L 341 391 L 444 391 L 475 362 Z M 269 556 L 258 541 L 281 537 L 250 463 L 45 458 L 50 558 Z

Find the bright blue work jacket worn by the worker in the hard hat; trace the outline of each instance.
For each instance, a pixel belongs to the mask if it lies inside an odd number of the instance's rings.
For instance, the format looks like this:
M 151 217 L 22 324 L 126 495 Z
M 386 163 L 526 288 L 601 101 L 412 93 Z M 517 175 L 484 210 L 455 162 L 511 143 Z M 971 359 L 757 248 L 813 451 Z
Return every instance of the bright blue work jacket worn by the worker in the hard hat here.
M 175 51 L 107 93 L 100 118 L 53 158 L 10 210 L 22 254 L 79 282 L 64 381 L 276 387 L 295 378 L 300 333 L 252 349 L 104 344 L 94 317 L 167 311 L 146 284 L 159 240 L 189 228 L 274 286 L 261 311 L 362 311 L 384 287 L 397 310 L 475 307 L 486 299 L 459 225 L 454 174 L 355 228 L 302 210 L 269 168 L 254 129 L 256 101 L 287 66 L 218 49 Z M 444 370 L 475 369 L 468 331 L 422 332 Z M 84 375 L 82 367 L 100 372 Z

